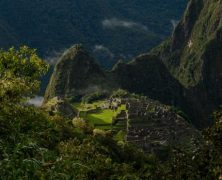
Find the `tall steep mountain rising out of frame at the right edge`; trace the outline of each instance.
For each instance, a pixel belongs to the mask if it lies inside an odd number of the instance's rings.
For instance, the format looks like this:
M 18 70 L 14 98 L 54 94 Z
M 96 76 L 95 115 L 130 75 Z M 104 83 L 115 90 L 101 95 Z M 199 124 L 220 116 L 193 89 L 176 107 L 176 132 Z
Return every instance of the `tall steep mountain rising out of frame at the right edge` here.
M 221 27 L 222 1 L 190 1 L 170 48 L 162 55 L 171 74 L 185 87 L 184 96 L 197 112 L 192 115 L 198 124 L 222 102 Z

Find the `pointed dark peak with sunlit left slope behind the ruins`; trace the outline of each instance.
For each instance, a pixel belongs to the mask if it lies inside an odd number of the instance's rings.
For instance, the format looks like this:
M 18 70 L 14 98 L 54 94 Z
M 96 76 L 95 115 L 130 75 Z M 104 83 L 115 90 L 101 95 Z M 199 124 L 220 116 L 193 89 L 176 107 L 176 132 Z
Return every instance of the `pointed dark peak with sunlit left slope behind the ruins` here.
M 55 97 L 78 97 L 95 91 L 107 91 L 113 85 L 81 45 L 64 52 L 55 66 L 45 93 L 45 101 Z M 110 87 L 110 88 L 108 88 Z

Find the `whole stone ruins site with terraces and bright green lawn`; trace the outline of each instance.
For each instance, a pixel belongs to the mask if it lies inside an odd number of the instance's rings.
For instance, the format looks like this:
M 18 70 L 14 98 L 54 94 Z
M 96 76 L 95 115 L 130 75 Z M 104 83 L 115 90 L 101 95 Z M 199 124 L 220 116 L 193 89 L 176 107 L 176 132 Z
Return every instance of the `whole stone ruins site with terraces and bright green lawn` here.
M 199 131 L 171 107 L 150 99 L 108 99 L 73 106 L 79 117 L 95 128 L 120 132 L 126 142 L 147 152 L 174 145 L 189 150 L 195 142 L 201 142 Z

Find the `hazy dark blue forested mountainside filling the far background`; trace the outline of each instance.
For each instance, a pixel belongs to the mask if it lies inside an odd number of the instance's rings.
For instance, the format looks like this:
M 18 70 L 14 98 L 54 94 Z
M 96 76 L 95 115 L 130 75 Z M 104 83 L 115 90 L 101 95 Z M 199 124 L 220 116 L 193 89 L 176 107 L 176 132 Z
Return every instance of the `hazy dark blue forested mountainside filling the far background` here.
M 103 67 L 111 67 L 169 36 L 185 4 L 186 0 L 2 0 L 0 46 L 26 44 L 52 62 L 67 47 L 83 43 Z

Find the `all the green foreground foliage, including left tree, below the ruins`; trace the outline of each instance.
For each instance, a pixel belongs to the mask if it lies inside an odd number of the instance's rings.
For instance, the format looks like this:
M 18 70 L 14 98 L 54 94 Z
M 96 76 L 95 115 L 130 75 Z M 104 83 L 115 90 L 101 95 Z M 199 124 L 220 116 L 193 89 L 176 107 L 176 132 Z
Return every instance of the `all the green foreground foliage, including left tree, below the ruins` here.
M 49 116 L 25 100 L 47 65 L 22 47 L 0 52 L 0 179 L 221 179 L 222 113 L 204 131 L 206 143 L 171 149 L 162 161 L 115 141 L 112 133 Z M 125 96 L 118 90 L 114 96 Z M 198 143 L 198 142 L 194 142 Z

